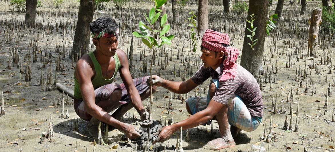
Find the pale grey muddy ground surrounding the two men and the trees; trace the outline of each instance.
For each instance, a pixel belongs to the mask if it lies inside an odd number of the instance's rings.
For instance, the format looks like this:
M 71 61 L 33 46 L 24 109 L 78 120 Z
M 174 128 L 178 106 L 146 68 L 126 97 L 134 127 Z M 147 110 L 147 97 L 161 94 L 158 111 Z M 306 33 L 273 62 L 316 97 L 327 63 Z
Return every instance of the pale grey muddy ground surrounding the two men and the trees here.
M 223 7 L 221 6 L 222 1 L 213 1 L 209 6 L 209 28 L 218 29 L 221 32 L 227 33 L 230 36 L 232 45 L 236 48 L 241 49 L 243 46 L 243 36 L 245 32 L 245 17 L 247 13 L 238 13 L 234 11 L 231 7 L 230 14 L 228 19 L 221 17 L 223 12 Z M 230 2 L 235 4 L 234 1 Z M 248 2 L 247 2 L 248 3 Z M 259 125 L 258 129 L 253 132 L 242 131 L 238 134 L 234 141 L 236 143 L 235 147 L 227 148 L 227 151 L 252 151 L 252 145 L 261 145 L 266 150 L 270 146 L 270 151 L 286 151 L 290 149 L 291 151 L 303 151 L 304 147 L 310 151 L 324 151 L 324 149 L 329 149 L 329 146 L 335 146 L 333 143 L 334 137 L 334 126 L 335 122 L 332 122 L 332 112 L 334 109 L 334 86 L 332 83 L 334 81 L 334 69 L 332 73 L 329 74 L 329 67 L 332 65 L 334 67 L 334 52 L 335 48 L 333 46 L 334 36 L 324 35 L 323 32 L 320 32 L 319 40 L 321 42 L 320 47 L 318 48 L 319 56 L 315 59 L 315 65 L 318 66 L 319 73 L 316 73 L 315 69 L 310 69 L 309 65 L 311 64 L 311 59 L 307 58 L 305 62 L 305 57 L 299 58 L 297 61 L 297 56 L 300 51 L 300 55 L 304 56 L 307 51 L 307 41 L 306 37 L 308 34 L 308 19 L 310 18 L 310 12 L 314 8 L 319 8 L 321 6 L 321 1 L 307 1 L 307 7 L 305 14 L 300 16 L 299 9 L 300 5 L 294 3 L 290 5 L 285 3 L 282 21 L 278 23 L 278 30 L 273 32 L 271 36 L 266 37 L 265 41 L 265 50 L 264 50 L 264 61 L 262 61 L 262 66 L 264 70 L 269 66 L 269 71 L 271 71 L 273 66 L 273 72 L 271 79 L 275 83 L 263 83 L 263 100 L 264 106 L 267 107 L 264 109 L 264 117 Z M 188 15 L 187 12 L 193 10 L 196 12 L 197 5 L 191 1 L 184 8 L 185 14 L 180 13 L 182 16 L 181 20 L 185 20 Z M 216 5 L 213 5 L 216 4 Z M 55 9 L 53 4 L 50 1 L 43 1 L 43 7 L 37 8 L 38 13 L 36 20 L 38 24 L 43 25 L 43 30 L 41 28 L 37 29 L 24 29 L 23 26 L 19 26 L 19 21 L 23 25 L 24 13 L 17 13 L 10 11 L 12 9 L 9 6 L 9 1 L 0 1 L 0 11 L 1 11 L 1 22 L 0 22 L 0 91 L 4 92 L 4 103 L 5 103 L 5 115 L 0 117 L 0 151 L 11 152 L 11 151 L 133 151 L 134 146 L 128 147 L 128 144 L 120 144 L 117 146 L 117 149 L 112 147 L 116 144 L 119 144 L 123 133 L 118 130 L 113 130 L 109 132 L 109 146 L 93 146 L 92 142 L 94 138 L 89 137 L 86 128 L 87 121 L 78 119 L 79 122 L 79 131 L 73 131 L 73 119 L 78 118 L 76 115 L 73 105 L 65 104 L 65 111 L 68 110 L 70 119 L 61 119 L 60 115 L 62 112 L 61 106 L 58 105 L 58 108 L 53 107 L 53 101 L 55 100 L 57 104 L 58 96 L 62 98 L 62 93 L 58 90 L 53 91 L 41 91 L 40 85 L 40 72 L 42 67 L 42 72 L 44 75 L 44 86 L 47 89 L 49 86 L 53 86 L 53 79 L 55 73 L 57 74 L 57 82 L 63 84 L 64 86 L 73 89 L 74 78 L 73 73 L 74 69 L 71 66 L 71 58 L 68 57 L 68 52 L 71 51 L 72 41 L 74 36 L 75 23 L 77 19 L 78 6 L 79 3 L 75 3 L 72 0 L 65 0 L 64 4 L 61 4 L 59 9 Z M 112 3 L 108 4 L 108 10 L 105 11 L 96 11 L 94 19 L 99 16 L 111 16 L 116 17 L 117 21 L 120 22 L 122 28 L 120 29 L 120 34 L 122 37 L 119 38 L 119 48 L 125 52 L 130 48 L 130 39 L 131 33 L 130 30 L 132 27 L 131 24 L 134 24 L 134 29 L 137 29 L 138 21 L 146 20 L 142 13 L 142 7 L 145 12 L 149 12 L 149 7 L 151 3 L 147 2 L 138 2 L 134 1 L 127 4 L 127 6 L 118 11 L 115 9 Z M 135 8 L 139 9 L 135 10 Z M 269 10 L 274 12 L 276 7 L 276 1 L 273 2 Z M 171 13 L 171 4 L 166 5 L 166 8 L 169 9 L 168 13 Z M 123 13 L 121 15 L 121 12 Z M 134 18 L 133 15 L 142 15 L 142 18 Z M 242 17 L 243 15 L 243 17 Z M 219 17 L 218 17 L 219 16 Z M 122 18 L 124 17 L 124 18 Z M 128 18 L 125 18 L 128 17 Z M 168 14 L 169 20 L 172 20 L 172 13 Z M 184 18 L 184 19 L 183 19 Z M 257 19 L 257 18 L 256 18 Z M 56 24 L 58 28 L 56 28 Z M 66 30 L 62 28 L 62 25 L 67 25 Z M 186 38 L 189 34 L 188 32 L 184 34 L 187 30 L 187 24 L 183 24 L 181 27 L 177 27 L 176 30 L 171 29 L 171 34 L 176 35 L 172 40 L 171 46 L 166 46 L 166 50 L 169 50 L 169 56 L 165 57 L 165 54 L 162 53 L 163 62 L 166 58 L 169 64 L 166 65 L 165 70 L 159 70 L 161 68 L 161 57 L 156 56 L 156 65 L 153 66 L 153 74 L 161 73 L 160 77 L 166 79 L 168 74 L 170 78 L 175 81 L 180 81 L 178 70 L 181 69 L 183 75 L 186 72 L 185 79 L 189 79 L 196 71 L 201 62 L 197 64 L 197 60 L 200 57 L 200 47 L 199 51 L 196 53 L 189 52 L 190 50 L 190 41 Z M 177 31 L 178 30 L 178 31 Z M 43 32 L 44 31 L 44 32 Z M 257 32 L 257 30 L 256 30 Z M 65 35 L 64 35 L 65 33 Z M 178 38 L 179 33 L 179 38 Z M 11 44 L 6 44 L 6 37 L 9 39 L 11 36 Z M 23 37 L 22 37 L 23 35 Z M 275 37 L 275 38 L 274 38 Z M 19 40 L 18 43 L 15 40 Z M 275 40 L 275 44 L 273 40 Z M 330 40 L 330 41 L 329 41 Z M 9 40 L 8 40 L 9 43 Z M 33 61 L 32 50 L 34 44 L 37 44 L 41 47 L 42 55 L 45 56 L 47 52 L 48 58 L 49 53 L 52 54 L 52 82 L 50 85 L 46 84 L 47 80 L 47 70 L 50 66 L 49 63 L 46 64 L 46 68 L 43 68 L 42 62 L 40 61 L 40 49 L 37 52 L 37 61 L 31 62 L 31 82 L 25 82 L 25 73 L 20 74 L 20 69 L 18 68 L 19 64 L 12 62 L 12 57 L 10 56 L 9 51 L 12 49 L 18 50 L 18 57 L 22 62 L 22 69 L 25 70 L 27 58 L 25 58 L 28 51 L 30 51 L 31 61 Z M 64 71 L 56 71 L 56 59 L 58 58 L 58 53 L 56 52 L 57 48 L 60 46 L 60 51 L 65 50 L 65 58 L 60 56 L 61 62 L 64 63 Z M 200 44 L 200 42 L 198 42 Z M 190 67 L 186 68 L 181 62 L 181 58 L 177 59 L 177 54 L 179 48 L 180 55 L 182 47 L 185 49 L 185 57 L 190 57 L 188 62 L 185 62 L 185 66 L 190 62 Z M 133 75 L 135 77 L 147 76 L 149 73 L 141 72 L 143 68 L 144 58 L 147 61 L 147 68 L 150 67 L 150 59 L 152 53 L 146 48 L 145 56 L 144 46 L 141 42 L 141 39 L 134 38 L 134 52 L 133 52 Z M 172 51 L 171 51 L 172 49 Z M 91 48 L 93 51 L 94 48 Z M 323 55 L 323 50 L 326 50 L 326 54 L 330 55 L 332 62 L 329 62 L 328 65 L 320 64 L 321 57 Z M 272 51 L 272 52 L 270 52 Z M 329 53 L 328 53 L 329 51 Z M 140 60 L 140 53 L 142 52 L 142 57 Z M 159 51 L 158 51 L 159 52 Z M 163 52 L 163 51 L 162 51 Z M 170 61 L 170 55 L 172 55 L 172 61 Z M 280 53 L 283 52 L 283 53 Z M 129 52 L 128 52 L 129 53 Z M 292 53 L 292 66 L 291 68 L 286 68 L 286 58 Z M 158 53 L 157 53 L 158 54 Z M 271 61 L 269 61 L 271 59 Z M 158 65 L 159 60 L 159 65 Z M 239 59 L 240 60 L 240 59 Z M 11 69 L 8 69 L 8 61 L 11 62 Z M 50 58 L 49 58 L 50 61 Z M 174 63 L 176 62 L 176 76 L 174 77 Z M 239 61 L 240 62 L 240 61 Z M 275 68 L 275 63 L 277 62 L 277 68 Z M 266 63 L 266 65 L 264 64 Z M 269 63 L 269 65 L 268 65 Z M 301 70 L 301 73 L 304 73 L 305 64 L 307 67 L 307 78 L 302 82 L 302 87 L 299 87 L 299 82 L 303 77 L 298 76 L 297 81 L 295 81 L 296 67 Z M 75 65 L 75 63 L 74 63 Z M 191 69 L 193 74 L 191 73 Z M 147 70 L 149 71 L 149 70 Z M 275 77 L 275 72 L 277 75 Z M 311 73 L 311 75 L 310 75 Z M 264 77 L 263 77 L 264 78 Z M 326 82 L 327 79 L 327 82 Z M 306 82 L 308 80 L 308 92 L 305 94 Z M 116 83 L 122 83 L 119 74 L 115 79 Z M 210 81 L 205 81 L 202 85 L 198 86 L 197 94 L 198 96 L 206 96 L 204 93 L 204 88 L 207 88 L 205 92 L 208 91 Z M 322 107 L 325 104 L 325 94 L 328 91 L 329 83 L 331 83 L 332 96 L 328 97 L 328 106 L 326 115 Z M 311 84 L 311 85 L 310 85 Z M 312 96 L 313 86 L 315 86 L 316 94 Z M 295 120 L 296 120 L 296 111 L 297 104 L 299 103 L 298 111 L 298 131 L 297 132 L 285 132 L 282 128 L 284 125 L 285 114 L 273 114 L 272 122 L 270 122 L 271 117 L 271 104 L 272 97 L 277 94 L 277 106 L 278 111 L 281 110 L 282 104 L 286 109 L 286 113 L 289 112 L 290 102 L 286 101 L 287 93 L 289 89 L 293 89 L 293 115 L 292 115 L 292 126 L 294 130 Z M 296 91 L 298 89 L 298 92 Z M 196 93 L 191 91 L 188 94 L 188 97 L 194 96 Z M 172 95 L 174 97 L 174 94 Z M 171 117 L 174 118 L 174 121 L 181 121 L 188 117 L 185 104 L 181 103 L 181 100 L 178 100 L 178 94 L 175 95 L 175 99 L 172 99 L 173 108 L 175 110 L 171 111 L 171 114 L 167 114 L 167 106 L 169 102 L 170 92 L 164 88 L 158 88 L 156 93 L 153 94 L 153 104 L 151 117 L 153 120 L 162 119 L 163 126 L 164 120 L 169 120 Z M 66 94 L 65 94 L 66 100 Z M 288 97 L 289 98 L 289 97 Z M 70 100 L 72 98 L 70 97 Z M 1 98 L 0 98 L 1 100 Z M 146 106 L 146 101 L 143 101 L 143 106 Z M 49 116 L 50 114 L 53 117 L 53 130 L 54 130 L 54 142 L 49 142 L 47 139 L 45 143 L 39 144 L 42 132 L 48 130 L 49 126 Z M 134 119 L 133 120 L 133 114 Z M 162 117 L 161 117 L 162 116 Z M 120 117 L 121 121 L 133 124 L 136 128 L 140 128 L 141 117 L 134 109 L 130 109 L 126 114 Z M 288 123 L 290 122 L 290 115 L 288 115 Z M 183 149 L 187 152 L 194 151 L 208 151 L 205 149 L 205 145 L 212 140 L 219 138 L 218 124 L 215 120 L 212 121 L 213 131 L 211 132 L 211 125 L 203 126 L 200 125 L 199 129 L 192 128 L 189 129 L 190 139 L 188 142 L 183 141 Z M 265 141 L 260 142 L 260 137 L 263 136 L 264 128 L 266 124 L 266 134 L 269 134 L 269 128 L 271 125 L 272 134 L 277 133 L 278 141 L 272 144 L 265 143 Z M 166 146 L 166 151 L 174 151 L 177 143 L 177 134 L 173 134 L 170 140 L 162 143 L 160 150 L 163 151 Z M 186 131 L 183 131 L 183 138 L 186 139 Z M 233 135 L 234 136 L 234 135 Z M 103 132 L 103 137 L 105 133 Z M 303 137 L 303 139 L 302 139 Z M 105 139 L 104 139 L 105 140 Z M 302 143 L 303 141 L 303 143 Z M 297 143 L 294 144 L 293 142 Z M 302 145 L 303 144 L 303 145 Z M 121 146 L 124 145 L 124 146 Z M 128 146 L 127 146 L 128 145 Z M 320 148 L 316 148 L 320 147 Z M 112 149 L 111 149 L 112 148 Z M 150 148 L 150 147 L 149 147 Z M 155 148 L 155 147 L 153 147 Z M 324 148 L 324 149 L 321 149 Z M 255 150 L 257 151 L 257 150 Z M 258 150 L 259 151 L 259 150 Z

